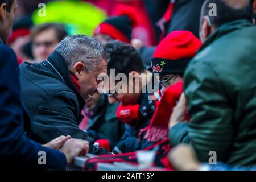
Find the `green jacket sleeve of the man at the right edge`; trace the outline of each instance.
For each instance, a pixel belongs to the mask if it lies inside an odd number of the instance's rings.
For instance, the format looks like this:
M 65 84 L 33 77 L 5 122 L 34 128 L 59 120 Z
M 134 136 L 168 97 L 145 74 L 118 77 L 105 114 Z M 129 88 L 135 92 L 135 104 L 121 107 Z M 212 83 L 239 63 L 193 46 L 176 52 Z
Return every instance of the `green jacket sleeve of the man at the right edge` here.
M 227 75 L 228 76 L 228 75 Z M 225 161 L 233 138 L 232 107 L 211 65 L 193 60 L 184 77 L 184 91 L 191 117 L 188 136 L 199 160 L 208 162 L 210 151 Z

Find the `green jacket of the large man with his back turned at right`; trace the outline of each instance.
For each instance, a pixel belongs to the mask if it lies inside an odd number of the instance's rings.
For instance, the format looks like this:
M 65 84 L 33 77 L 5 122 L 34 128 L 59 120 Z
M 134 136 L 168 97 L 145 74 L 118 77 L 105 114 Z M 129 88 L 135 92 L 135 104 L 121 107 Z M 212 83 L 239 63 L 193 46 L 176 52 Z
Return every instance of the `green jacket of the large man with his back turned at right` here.
M 191 143 L 197 157 L 256 165 L 256 27 L 249 20 L 221 26 L 188 65 L 184 91 L 191 121 L 170 131 L 172 146 Z

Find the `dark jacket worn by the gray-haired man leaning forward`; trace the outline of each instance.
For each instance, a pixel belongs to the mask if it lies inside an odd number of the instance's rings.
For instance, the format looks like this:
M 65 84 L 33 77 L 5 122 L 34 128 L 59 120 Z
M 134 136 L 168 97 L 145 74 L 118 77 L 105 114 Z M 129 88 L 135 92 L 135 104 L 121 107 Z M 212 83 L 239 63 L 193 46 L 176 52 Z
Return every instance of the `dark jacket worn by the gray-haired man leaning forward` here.
M 73 84 L 71 74 L 56 51 L 41 63 L 20 65 L 22 96 L 32 121 L 32 138 L 40 143 L 60 135 L 94 142 L 79 129 L 85 101 Z M 95 154 L 92 150 L 91 147 L 90 152 Z

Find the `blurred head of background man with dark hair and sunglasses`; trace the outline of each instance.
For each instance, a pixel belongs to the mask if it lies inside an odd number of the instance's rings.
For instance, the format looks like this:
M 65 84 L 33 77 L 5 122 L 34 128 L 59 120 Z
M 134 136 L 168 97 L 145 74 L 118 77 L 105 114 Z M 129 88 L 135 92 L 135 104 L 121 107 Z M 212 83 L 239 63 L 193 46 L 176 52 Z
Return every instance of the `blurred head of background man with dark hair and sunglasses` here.
M 45 23 L 35 26 L 31 31 L 32 54 L 35 61 L 46 60 L 65 36 L 67 32 L 62 24 Z

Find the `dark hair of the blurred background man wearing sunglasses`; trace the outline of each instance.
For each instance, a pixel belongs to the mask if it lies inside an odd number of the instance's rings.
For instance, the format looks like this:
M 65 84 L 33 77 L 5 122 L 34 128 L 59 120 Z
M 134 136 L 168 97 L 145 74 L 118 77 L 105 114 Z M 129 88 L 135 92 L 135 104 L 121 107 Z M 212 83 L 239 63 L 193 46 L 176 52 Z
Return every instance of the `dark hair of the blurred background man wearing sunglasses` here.
M 67 31 L 65 30 L 65 27 L 63 24 L 58 24 L 58 23 L 44 23 L 40 24 L 38 26 L 35 26 L 32 29 L 31 32 L 31 38 L 32 40 L 35 38 L 36 35 L 38 35 L 40 32 L 48 30 L 48 29 L 53 29 L 56 32 L 57 39 L 59 41 L 63 40 L 65 36 L 67 36 Z

